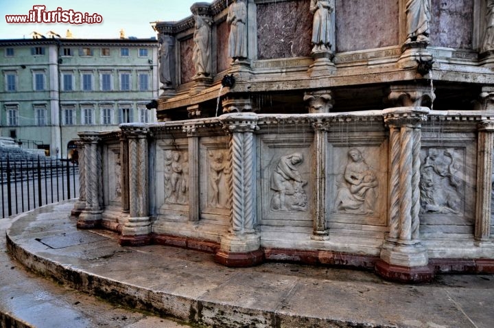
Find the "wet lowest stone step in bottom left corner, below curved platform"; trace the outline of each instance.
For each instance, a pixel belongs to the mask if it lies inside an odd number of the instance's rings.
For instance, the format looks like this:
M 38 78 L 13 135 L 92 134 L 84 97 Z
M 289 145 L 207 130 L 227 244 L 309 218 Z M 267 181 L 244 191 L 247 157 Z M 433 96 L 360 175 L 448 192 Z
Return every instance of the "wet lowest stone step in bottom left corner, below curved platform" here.
M 191 327 L 100 301 L 26 270 L 5 248 L 12 219 L 0 219 L 0 327 Z

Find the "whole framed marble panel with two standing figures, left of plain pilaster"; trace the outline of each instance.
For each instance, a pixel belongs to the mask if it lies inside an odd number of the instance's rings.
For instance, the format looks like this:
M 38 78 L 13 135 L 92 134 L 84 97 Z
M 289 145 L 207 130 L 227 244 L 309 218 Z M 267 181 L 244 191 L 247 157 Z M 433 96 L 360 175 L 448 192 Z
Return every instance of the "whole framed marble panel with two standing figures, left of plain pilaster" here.
M 188 140 L 156 142 L 156 209 L 158 218 L 188 220 Z

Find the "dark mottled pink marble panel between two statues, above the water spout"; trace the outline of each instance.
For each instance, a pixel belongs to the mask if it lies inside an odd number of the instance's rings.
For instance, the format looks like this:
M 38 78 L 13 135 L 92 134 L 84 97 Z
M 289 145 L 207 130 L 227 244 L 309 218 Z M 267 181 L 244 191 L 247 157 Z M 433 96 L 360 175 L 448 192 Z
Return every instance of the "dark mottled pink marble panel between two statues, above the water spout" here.
M 310 56 L 312 14 L 310 1 L 282 1 L 257 5 L 259 59 Z

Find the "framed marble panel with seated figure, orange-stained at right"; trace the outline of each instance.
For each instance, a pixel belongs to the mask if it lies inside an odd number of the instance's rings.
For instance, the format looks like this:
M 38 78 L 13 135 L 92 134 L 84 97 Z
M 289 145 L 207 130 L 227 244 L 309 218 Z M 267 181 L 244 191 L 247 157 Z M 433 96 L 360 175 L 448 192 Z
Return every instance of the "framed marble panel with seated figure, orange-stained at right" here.
M 355 132 L 342 140 L 329 133 L 327 221 L 329 230 L 386 231 L 388 139 Z

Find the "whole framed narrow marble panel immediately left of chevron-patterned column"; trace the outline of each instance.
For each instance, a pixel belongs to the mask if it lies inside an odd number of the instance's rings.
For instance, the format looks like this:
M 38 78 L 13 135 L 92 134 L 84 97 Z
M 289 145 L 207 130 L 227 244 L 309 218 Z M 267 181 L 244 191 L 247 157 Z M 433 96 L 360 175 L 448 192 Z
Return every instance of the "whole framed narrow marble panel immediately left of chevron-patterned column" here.
M 231 200 L 228 179 L 228 137 L 203 137 L 199 141 L 199 202 L 201 220 L 229 224 Z

